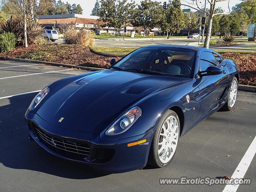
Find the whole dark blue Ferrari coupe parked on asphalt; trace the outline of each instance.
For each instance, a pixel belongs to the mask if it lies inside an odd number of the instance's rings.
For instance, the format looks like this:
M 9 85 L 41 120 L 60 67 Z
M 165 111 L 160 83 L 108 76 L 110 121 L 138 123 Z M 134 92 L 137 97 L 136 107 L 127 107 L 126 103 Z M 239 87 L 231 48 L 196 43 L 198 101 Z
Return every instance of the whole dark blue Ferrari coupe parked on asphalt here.
M 31 140 L 101 172 L 164 167 L 180 137 L 236 102 L 236 63 L 210 49 L 147 46 L 110 64 L 44 88 L 25 115 Z

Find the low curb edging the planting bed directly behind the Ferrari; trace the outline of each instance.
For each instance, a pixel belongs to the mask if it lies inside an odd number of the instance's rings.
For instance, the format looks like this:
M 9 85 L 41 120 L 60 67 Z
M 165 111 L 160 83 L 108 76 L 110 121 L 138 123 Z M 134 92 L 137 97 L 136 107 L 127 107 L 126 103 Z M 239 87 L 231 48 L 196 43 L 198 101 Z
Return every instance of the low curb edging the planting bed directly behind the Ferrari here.
M 53 66 L 58 66 L 58 67 L 62 66 L 62 67 L 77 68 L 77 69 L 84 69 L 84 70 L 90 70 L 90 71 L 105 70 L 103 68 L 84 67 L 84 66 L 76 66 L 76 65 L 68 65 L 68 64 L 60 64 L 60 63 L 51 63 L 51 62 L 46 62 L 46 61 L 36 61 L 36 60 L 27 60 L 27 59 L 18 59 L 18 58 L 8 58 L 8 57 L 0 57 L 0 60 L 29 62 L 29 63 L 36 63 L 36 64 L 46 64 L 46 65 L 53 65 Z M 248 92 L 256 92 L 256 86 L 239 85 L 238 90 L 248 91 Z

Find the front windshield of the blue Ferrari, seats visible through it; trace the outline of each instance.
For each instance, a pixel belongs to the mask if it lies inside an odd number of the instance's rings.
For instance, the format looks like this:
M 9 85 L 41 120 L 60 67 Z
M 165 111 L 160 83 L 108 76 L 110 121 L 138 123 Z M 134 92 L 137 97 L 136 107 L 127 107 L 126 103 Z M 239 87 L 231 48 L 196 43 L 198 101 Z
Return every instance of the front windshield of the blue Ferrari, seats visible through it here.
M 154 75 L 191 78 L 196 51 L 175 47 L 144 47 L 128 54 L 110 68 Z

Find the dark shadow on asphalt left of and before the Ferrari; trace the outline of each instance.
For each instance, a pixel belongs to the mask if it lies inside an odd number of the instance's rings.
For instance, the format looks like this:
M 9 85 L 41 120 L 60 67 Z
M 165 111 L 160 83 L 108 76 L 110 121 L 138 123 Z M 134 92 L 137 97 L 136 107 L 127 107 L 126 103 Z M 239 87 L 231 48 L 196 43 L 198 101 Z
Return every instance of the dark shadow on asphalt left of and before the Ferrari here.
M 84 164 L 55 157 L 29 140 L 24 114 L 36 94 L 0 100 L 0 164 L 71 179 L 106 176 Z

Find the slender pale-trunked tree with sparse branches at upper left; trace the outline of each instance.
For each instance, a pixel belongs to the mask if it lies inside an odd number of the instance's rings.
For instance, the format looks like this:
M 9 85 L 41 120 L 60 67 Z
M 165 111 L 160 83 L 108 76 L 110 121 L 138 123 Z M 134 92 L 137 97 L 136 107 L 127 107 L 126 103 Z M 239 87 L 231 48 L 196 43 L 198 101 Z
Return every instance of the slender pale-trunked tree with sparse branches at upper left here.
M 28 47 L 27 24 L 28 20 L 34 17 L 34 8 L 36 7 L 37 0 L 2 0 L 2 4 L 4 4 L 12 14 L 16 14 L 18 18 L 22 18 L 24 22 L 24 45 Z M 15 10 L 15 12 L 13 10 Z

